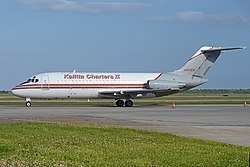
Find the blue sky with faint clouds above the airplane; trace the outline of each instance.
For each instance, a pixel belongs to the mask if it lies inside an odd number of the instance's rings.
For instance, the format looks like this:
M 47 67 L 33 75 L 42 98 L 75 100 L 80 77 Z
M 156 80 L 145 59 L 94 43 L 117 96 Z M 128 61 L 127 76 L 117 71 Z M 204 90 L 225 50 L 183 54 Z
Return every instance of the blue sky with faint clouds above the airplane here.
M 250 1 L 0 1 L 0 90 L 43 72 L 169 72 L 204 45 L 248 48 L 198 88 L 250 88 Z

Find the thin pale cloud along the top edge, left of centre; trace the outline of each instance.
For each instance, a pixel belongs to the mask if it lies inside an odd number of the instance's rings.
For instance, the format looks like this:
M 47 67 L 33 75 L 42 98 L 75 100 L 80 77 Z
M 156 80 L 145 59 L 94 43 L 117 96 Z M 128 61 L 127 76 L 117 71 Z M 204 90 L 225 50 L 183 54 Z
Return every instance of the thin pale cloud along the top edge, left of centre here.
M 55 11 L 77 11 L 83 13 L 100 13 L 106 11 L 134 11 L 149 8 L 149 4 L 138 2 L 79 2 L 73 0 L 19 0 L 33 9 Z

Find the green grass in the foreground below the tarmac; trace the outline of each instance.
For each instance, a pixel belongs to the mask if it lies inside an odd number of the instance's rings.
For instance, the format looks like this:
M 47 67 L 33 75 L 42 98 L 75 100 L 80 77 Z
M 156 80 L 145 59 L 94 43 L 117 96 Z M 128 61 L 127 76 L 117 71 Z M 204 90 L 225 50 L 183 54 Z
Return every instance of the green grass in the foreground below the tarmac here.
M 248 166 L 248 147 L 139 130 L 0 124 L 0 166 Z

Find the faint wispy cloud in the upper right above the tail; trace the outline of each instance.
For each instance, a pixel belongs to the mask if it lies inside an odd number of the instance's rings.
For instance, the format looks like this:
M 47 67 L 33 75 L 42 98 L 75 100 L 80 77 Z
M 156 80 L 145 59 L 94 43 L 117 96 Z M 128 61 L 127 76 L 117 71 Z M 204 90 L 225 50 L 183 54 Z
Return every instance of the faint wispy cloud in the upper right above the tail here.
M 250 24 L 250 17 L 241 13 L 205 14 L 200 11 L 187 11 L 176 15 L 155 16 L 150 18 L 155 22 L 208 22 L 218 24 Z

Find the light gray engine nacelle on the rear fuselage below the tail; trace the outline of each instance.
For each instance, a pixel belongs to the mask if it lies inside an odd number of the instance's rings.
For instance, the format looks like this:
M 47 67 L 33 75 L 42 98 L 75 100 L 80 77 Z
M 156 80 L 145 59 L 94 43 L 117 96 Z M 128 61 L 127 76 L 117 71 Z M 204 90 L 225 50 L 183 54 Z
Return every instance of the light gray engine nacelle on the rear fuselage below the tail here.
M 148 89 L 180 89 L 186 86 L 186 84 L 177 81 L 168 80 L 148 80 Z

